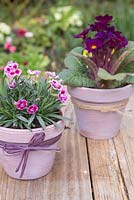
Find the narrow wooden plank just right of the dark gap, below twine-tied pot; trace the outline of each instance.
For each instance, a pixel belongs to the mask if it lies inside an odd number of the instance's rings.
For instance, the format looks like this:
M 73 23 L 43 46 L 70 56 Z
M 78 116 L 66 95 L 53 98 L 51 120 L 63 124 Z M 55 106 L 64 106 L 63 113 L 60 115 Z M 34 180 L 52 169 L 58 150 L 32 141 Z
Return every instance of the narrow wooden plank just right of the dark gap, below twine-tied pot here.
M 95 200 L 127 200 L 112 140 L 87 141 Z

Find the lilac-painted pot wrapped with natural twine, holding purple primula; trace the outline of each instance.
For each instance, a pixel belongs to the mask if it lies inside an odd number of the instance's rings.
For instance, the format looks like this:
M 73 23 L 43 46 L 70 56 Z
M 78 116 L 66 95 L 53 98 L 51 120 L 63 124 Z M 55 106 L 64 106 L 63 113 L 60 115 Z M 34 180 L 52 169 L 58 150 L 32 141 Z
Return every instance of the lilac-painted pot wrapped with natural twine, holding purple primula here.
M 80 134 L 92 139 L 116 136 L 132 86 L 115 89 L 70 88 Z

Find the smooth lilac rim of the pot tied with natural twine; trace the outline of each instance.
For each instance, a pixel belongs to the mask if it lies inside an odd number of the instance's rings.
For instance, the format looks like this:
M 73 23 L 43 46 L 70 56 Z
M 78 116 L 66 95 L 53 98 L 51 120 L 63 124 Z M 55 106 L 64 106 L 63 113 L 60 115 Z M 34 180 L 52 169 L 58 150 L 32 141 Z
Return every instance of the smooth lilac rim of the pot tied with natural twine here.
M 132 85 L 113 89 L 95 89 L 86 87 L 68 87 L 69 94 L 86 102 L 110 103 L 128 99 L 132 93 Z

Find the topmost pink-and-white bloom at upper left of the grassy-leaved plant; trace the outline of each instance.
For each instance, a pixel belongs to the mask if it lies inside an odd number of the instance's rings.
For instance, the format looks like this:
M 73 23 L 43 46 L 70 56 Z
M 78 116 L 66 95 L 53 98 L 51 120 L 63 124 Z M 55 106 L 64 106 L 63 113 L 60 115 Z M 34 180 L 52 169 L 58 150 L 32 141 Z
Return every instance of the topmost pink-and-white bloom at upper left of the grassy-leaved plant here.
M 15 76 L 20 76 L 21 73 L 22 70 L 18 68 L 18 63 L 16 62 L 10 61 L 4 68 L 4 74 L 10 79 L 14 78 Z

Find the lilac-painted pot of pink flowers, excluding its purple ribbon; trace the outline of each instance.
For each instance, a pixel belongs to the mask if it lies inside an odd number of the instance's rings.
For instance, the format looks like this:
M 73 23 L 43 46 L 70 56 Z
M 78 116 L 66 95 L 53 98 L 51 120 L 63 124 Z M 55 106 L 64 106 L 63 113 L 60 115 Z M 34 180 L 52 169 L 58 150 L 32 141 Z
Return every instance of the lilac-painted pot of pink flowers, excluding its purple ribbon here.
M 54 138 L 60 135 L 64 129 L 64 123 L 62 121 L 57 122 L 60 128 L 56 128 L 54 125 L 50 125 L 45 130 L 44 141 Z M 41 133 L 42 128 L 33 129 L 32 132 L 29 130 L 22 129 L 10 129 L 0 127 L 0 141 L 9 143 L 29 143 L 31 138 L 36 133 Z M 57 143 L 49 146 L 49 148 L 57 148 Z M 50 172 L 53 166 L 55 151 L 37 150 L 29 151 L 26 168 L 23 176 L 20 178 L 20 171 L 15 172 L 19 165 L 23 152 L 18 154 L 9 155 L 2 148 L 0 148 L 0 162 L 6 173 L 16 179 L 29 180 L 40 178 Z

